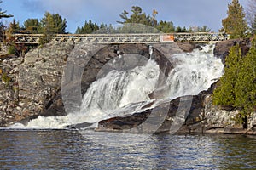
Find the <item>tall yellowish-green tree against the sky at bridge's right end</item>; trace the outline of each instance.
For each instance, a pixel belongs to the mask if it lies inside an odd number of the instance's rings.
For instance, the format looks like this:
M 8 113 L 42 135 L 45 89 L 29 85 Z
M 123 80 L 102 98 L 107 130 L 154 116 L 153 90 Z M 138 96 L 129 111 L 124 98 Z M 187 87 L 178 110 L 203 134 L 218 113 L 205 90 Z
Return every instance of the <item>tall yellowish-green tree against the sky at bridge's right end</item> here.
M 230 33 L 230 38 L 246 37 L 248 30 L 246 14 L 239 0 L 232 0 L 228 8 L 228 17 L 222 20 L 222 30 Z

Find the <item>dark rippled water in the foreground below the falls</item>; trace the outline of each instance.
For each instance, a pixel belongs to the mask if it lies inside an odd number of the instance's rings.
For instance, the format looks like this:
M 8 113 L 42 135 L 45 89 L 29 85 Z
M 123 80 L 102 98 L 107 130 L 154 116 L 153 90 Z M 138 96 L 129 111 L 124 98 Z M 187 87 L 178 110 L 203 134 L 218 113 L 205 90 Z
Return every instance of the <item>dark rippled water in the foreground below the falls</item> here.
M 77 131 L 2 130 L 0 136 L 0 169 L 256 169 L 256 137 L 159 134 L 108 147 Z

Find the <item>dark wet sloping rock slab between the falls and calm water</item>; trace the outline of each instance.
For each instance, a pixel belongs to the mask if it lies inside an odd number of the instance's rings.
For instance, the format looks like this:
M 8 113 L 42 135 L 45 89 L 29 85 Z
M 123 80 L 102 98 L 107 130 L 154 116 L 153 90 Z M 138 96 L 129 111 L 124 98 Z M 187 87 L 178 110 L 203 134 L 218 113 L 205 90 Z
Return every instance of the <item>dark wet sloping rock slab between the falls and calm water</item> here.
M 200 114 L 201 103 L 198 96 L 184 96 L 131 116 L 103 120 L 99 122 L 96 130 L 122 133 L 177 133 L 183 124 L 193 124 L 193 120 Z M 187 133 L 189 129 L 185 128 L 183 131 Z

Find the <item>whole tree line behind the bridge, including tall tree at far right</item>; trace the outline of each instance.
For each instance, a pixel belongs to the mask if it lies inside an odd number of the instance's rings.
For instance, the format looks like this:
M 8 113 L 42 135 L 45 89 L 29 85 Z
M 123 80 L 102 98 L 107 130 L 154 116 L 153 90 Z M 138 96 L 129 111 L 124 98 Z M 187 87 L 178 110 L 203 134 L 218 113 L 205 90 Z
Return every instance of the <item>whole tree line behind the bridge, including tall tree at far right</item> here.
M 238 0 L 236 0 L 238 3 Z M 0 1 L 0 3 L 2 3 Z M 256 5 L 255 0 L 249 0 L 249 8 L 247 9 L 247 18 L 250 21 L 250 32 L 255 33 L 256 27 Z M 241 7 L 238 11 L 241 13 L 243 8 Z M 229 13 L 234 13 L 234 9 L 229 6 Z M 238 13 L 238 14 L 239 14 Z M 2 18 L 5 17 L 13 17 L 12 14 L 6 14 L 6 11 L 0 10 L 0 14 L 2 14 Z M 124 10 L 119 17 L 121 20 L 117 21 L 119 24 L 128 24 L 128 23 L 137 23 L 142 24 L 144 26 L 154 27 L 156 30 L 171 33 L 171 32 L 209 32 L 211 31 L 208 26 L 174 26 L 172 21 L 166 20 L 157 20 L 156 16 L 158 11 L 153 10 L 152 14 L 146 14 L 143 12 L 143 9 L 138 6 L 131 7 L 131 12 L 127 12 Z M 248 31 L 248 27 L 244 27 L 247 23 L 245 19 L 245 13 L 243 13 L 242 17 L 235 16 L 235 18 L 228 17 L 223 22 L 223 28 L 220 31 L 226 31 L 232 35 L 236 35 L 235 37 L 244 37 L 245 32 Z M 236 19 L 236 20 L 234 20 Z M 238 23 L 242 23 L 242 25 L 238 28 Z M 236 27 L 236 29 L 235 29 Z M 67 20 L 61 17 L 60 14 L 50 14 L 49 12 L 45 12 L 42 19 L 27 19 L 23 25 L 20 25 L 18 21 L 15 19 L 9 23 L 9 26 L 3 26 L 3 22 L 0 23 L 1 32 L 5 31 L 7 34 L 13 33 L 32 33 L 32 34 L 65 34 L 69 33 L 66 31 L 67 28 Z M 104 33 L 117 31 L 117 28 L 113 28 L 112 25 L 107 25 L 105 23 L 97 24 L 92 20 L 85 20 L 82 26 L 78 26 L 75 33 L 76 34 L 90 34 L 95 31 L 105 31 Z M 3 37 L 3 36 L 2 36 Z

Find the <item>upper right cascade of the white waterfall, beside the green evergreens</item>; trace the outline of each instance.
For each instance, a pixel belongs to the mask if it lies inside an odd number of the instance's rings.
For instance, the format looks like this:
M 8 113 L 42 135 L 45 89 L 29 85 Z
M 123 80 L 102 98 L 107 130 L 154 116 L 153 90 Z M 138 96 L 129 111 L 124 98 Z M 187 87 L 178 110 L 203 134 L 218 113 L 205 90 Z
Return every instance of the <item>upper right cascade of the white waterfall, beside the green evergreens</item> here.
M 213 45 L 195 49 L 192 53 L 174 54 L 172 69 L 167 78 L 166 97 L 175 99 L 189 94 L 199 94 L 222 76 L 224 65 L 213 54 Z

